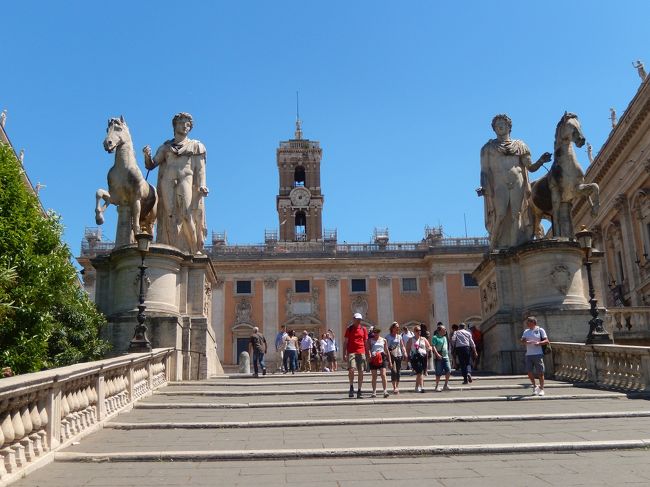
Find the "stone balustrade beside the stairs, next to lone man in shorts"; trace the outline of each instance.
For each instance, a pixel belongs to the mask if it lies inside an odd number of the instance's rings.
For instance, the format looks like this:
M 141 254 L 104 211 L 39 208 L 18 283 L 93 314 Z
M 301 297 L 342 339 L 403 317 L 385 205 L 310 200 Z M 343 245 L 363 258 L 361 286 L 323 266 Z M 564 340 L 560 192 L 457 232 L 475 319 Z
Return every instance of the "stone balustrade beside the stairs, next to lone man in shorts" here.
M 650 391 L 650 347 L 553 342 L 554 377 L 623 391 Z

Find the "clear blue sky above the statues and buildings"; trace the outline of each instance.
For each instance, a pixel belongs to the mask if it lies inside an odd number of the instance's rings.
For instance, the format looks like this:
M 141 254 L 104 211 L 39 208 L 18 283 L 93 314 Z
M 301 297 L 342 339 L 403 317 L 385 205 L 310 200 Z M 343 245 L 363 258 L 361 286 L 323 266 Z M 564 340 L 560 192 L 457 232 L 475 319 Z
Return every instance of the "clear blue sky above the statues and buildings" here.
M 486 234 L 479 151 L 497 113 L 536 159 L 565 110 L 596 153 L 650 68 L 647 1 L 3 2 L 0 110 L 78 255 L 113 155 L 109 117 L 140 148 L 179 111 L 208 150 L 208 227 L 230 243 L 278 226 L 275 150 L 323 148 L 323 226 L 339 241 L 415 241 L 425 225 Z M 649 69 L 650 71 L 650 69 Z M 578 152 L 583 166 L 585 149 Z M 535 178 L 545 171 L 540 169 Z M 155 182 L 156 172 L 149 176 Z M 114 239 L 111 208 L 104 236 Z

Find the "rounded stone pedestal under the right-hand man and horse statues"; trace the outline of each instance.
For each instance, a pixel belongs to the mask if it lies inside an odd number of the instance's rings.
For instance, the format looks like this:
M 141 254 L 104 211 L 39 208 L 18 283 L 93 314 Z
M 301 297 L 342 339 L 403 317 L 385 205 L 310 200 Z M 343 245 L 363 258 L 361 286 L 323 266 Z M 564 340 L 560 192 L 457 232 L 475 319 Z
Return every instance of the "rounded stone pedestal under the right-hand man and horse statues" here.
M 474 277 L 481 295 L 484 369 L 524 372 L 520 338 L 527 316 L 537 318 L 551 341 L 584 343 L 591 315 L 582 262 L 578 244 L 563 238 L 494 251 L 483 259 Z

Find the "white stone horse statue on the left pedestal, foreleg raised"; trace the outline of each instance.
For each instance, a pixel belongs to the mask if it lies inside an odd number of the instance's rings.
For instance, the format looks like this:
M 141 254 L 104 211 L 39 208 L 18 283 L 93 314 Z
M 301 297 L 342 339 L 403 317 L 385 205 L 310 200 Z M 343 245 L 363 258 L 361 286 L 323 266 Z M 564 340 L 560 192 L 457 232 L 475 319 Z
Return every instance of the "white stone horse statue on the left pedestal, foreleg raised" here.
M 134 236 L 140 232 L 153 235 L 158 196 L 156 188 L 142 177 L 124 117 L 109 119 L 106 133 L 104 149 L 109 153 L 115 152 L 115 162 L 108 171 L 108 191 L 97 190 L 95 221 L 97 225 L 104 223 L 104 211 L 110 204 L 118 207 L 115 239 L 118 247 L 134 242 Z M 103 205 L 100 203 L 102 200 Z M 125 222 L 124 219 L 129 217 L 130 221 Z M 128 227 L 130 232 L 124 233 Z

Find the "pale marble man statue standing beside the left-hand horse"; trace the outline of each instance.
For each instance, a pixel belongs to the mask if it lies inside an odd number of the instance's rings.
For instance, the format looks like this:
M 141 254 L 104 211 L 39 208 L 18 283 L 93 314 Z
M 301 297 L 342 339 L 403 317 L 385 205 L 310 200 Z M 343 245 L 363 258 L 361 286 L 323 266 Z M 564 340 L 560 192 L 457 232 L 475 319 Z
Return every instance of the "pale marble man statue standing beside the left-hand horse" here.
M 158 228 L 156 241 L 172 245 L 183 252 L 203 250 L 207 237 L 205 202 L 205 146 L 188 137 L 193 127 L 189 113 L 179 113 L 172 120 L 174 138 L 166 141 L 151 157 L 146 146 L 144 165 L 158 167 Z

